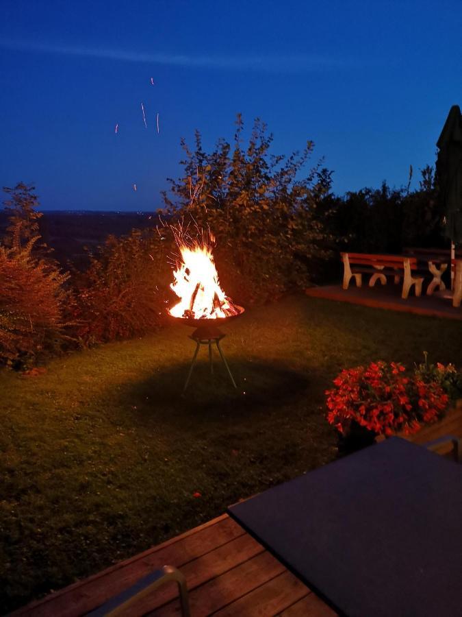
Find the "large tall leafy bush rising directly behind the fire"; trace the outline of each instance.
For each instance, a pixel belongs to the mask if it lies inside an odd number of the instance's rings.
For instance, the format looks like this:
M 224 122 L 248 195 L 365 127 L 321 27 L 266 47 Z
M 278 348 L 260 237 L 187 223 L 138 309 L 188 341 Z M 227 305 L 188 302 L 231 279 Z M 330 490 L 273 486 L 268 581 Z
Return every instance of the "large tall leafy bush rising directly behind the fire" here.
M 172 197 L 164 193 L 164 201 L 171 217 L 213 232 L 223 287 L 249 303 L 307 285 L 310 260 L 327 254 L 326 213 L 318 209 L 330 176 L 318 164 L 299 177 L 313 143 L 301 154 L 274 156 L 264 123 L 255 121 L 245 148 L 242 130 L 239 115 L 233 147 L 220 139 L 210 154 L 199 132 L 194 151 L 183 141 L 185 174 L 170 179 Z

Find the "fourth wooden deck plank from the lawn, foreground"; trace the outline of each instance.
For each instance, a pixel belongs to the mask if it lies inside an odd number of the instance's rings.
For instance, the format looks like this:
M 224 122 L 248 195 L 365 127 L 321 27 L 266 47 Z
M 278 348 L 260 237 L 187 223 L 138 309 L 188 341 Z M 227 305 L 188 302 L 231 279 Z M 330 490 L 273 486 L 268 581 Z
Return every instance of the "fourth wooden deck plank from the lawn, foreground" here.
M 307 595 L 309 589 L 287 570 L 214 613 L 216 617 L 272 617 Z M 309 617 L 309 616 L 307 616 Z

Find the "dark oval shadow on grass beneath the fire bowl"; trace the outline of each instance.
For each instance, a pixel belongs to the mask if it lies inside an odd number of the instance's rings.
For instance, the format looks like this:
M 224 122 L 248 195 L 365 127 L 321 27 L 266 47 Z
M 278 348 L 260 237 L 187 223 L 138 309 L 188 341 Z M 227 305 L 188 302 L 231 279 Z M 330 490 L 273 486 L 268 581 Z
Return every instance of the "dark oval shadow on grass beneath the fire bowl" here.
M 177 363 L 127 384 L 118 393 L 118 403 L 145 420 L 150 416 L 166 422 L 187 417 L 207 421 L 223 415 L 239 418 L 297 400 L 318 382 L 318 375 L 292 370 L 281 363 L 233 359 L 229 367 L 238 386 L 234 388 L 218 359 L 213 375 L 208 362 L 198 361 L 188 389 L 183 391 L 189 367 L 189 363 Z

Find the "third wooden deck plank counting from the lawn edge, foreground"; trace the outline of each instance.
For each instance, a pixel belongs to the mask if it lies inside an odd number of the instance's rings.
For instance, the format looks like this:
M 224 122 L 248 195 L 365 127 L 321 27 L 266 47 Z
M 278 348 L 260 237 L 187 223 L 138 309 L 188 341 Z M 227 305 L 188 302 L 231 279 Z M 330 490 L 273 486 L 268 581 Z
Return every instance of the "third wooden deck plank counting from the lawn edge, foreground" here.
M 285 571 L 280 561 L 268 551 L 248 559 L 240 566 L 221 574 L 190 592 L 192 617 L 205 617 L 233 603 L 248 592 L 257 589 Z M 172 617 L 181 614 L 179 599 L 150 613 L 155 617 Z

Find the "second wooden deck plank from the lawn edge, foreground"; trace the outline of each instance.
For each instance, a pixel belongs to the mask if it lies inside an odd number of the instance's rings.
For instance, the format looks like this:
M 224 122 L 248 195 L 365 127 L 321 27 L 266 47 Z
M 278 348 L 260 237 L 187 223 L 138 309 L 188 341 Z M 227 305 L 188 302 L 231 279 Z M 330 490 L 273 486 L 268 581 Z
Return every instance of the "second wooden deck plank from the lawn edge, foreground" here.
M 252 559 L 259 553 L 264 553 L 263 546 L 246 533 L 228 544 L 198 557 L 198 559 L 189 561 L 181 568 L 188 585 L 188 591 L 192 592 L 198 585 L 220 576 L 220 574 L 235 568 L 248 559 Z M 175 566 L 176 564 L 170 565 Z M 124 612 L 124 617 L 139 617 L 153 612 L 153 609 L 169 603 L 173 598 L 177 598 L 177 595 L 178 589 L 175 583 L 165 585 L 154 590 L 152 594 L 141 598 L 139 602 L 133 605 L 133 608 Z

